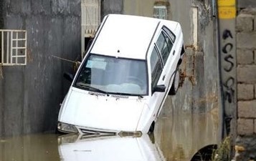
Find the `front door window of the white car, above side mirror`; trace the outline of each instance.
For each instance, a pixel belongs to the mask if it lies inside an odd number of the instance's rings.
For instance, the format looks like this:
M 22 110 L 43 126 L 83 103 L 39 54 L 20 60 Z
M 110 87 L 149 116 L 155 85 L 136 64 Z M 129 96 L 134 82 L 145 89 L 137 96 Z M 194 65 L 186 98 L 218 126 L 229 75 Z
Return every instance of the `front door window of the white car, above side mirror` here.
M 161 60 L 158 56 L 156 47 L 153 48 L 153 51 L 151 53 L 150 63 L 151 63 L 151 82 L 152 82 L 151 85 L 153 89 L 153 87 L 156 87 L 158 79 L 161 76 L 161 72 L 163 71 Z

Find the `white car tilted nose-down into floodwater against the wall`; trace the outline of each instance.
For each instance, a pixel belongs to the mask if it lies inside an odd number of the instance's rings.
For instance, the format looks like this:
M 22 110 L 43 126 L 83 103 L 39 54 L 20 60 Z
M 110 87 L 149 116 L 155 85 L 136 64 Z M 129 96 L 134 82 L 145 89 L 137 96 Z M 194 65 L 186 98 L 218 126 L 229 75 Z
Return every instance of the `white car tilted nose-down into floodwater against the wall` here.
M 57 129 L 80 134 L 153 132 L 179 87 L 181 25 L 143 16 L 105 16 L 62 102 Z

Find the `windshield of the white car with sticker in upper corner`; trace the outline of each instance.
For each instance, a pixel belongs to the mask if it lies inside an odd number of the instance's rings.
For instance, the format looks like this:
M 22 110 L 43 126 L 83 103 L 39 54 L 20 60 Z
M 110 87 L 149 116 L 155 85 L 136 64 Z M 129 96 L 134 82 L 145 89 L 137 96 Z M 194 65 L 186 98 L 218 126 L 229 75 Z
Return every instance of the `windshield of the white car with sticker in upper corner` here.
M 146 61 L 90 54 L 74 86 L 93 92 L 142 96 L 148 93 Z

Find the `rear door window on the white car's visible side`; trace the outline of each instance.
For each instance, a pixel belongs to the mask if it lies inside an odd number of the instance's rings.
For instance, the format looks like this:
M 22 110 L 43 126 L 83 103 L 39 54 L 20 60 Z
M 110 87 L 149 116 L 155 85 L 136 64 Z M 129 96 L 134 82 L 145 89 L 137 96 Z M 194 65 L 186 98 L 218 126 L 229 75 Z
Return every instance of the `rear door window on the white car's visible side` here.
M 167 34 L 164 31 L 161 31 L 161 34 L 159 35 L 156 41 L 156 45 L 163 59 L 163 64 L 166 64 L 173 43 L 171 42 L 171 39 L 169 38 L 169 36 L 167 36 Z

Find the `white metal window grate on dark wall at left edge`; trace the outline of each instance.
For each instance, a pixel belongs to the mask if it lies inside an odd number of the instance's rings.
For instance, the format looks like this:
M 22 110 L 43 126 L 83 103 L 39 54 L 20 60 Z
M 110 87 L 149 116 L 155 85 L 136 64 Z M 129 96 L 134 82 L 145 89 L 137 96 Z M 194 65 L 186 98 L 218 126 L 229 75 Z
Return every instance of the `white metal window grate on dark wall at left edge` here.
M 27 64 L 27 31 L 0 29 L 0 65 Z

